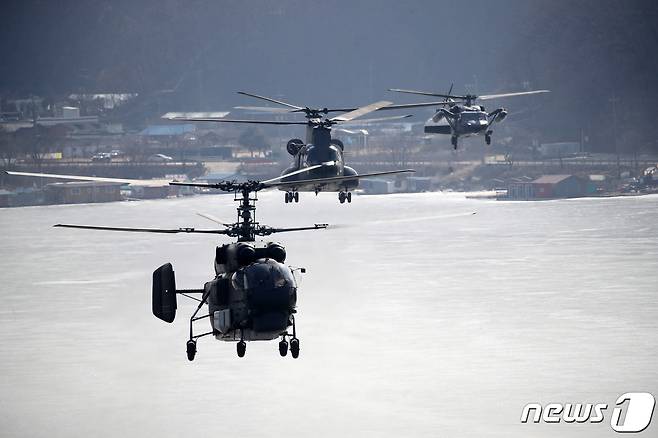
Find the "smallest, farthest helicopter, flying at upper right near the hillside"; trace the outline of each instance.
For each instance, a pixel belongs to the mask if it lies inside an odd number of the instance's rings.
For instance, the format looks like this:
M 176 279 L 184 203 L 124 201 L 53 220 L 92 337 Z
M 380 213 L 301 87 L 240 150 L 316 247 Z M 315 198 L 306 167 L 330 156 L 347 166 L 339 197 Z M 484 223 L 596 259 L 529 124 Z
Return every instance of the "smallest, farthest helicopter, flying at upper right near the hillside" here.
M 448 106 L 449 109 L 439 108 L 434 116 L 428 120 L 425 125 L 425 132 L 428 134 L 447 134 L 451 135 L 452 146 L 457 150 L 459 137 L 470 137 L 473 135 L 484 135 L 484 141 L 487 145 L 491 144 L 491 127 L 494 123 L 500 123 L 507 117 L 505 108 L 498 108 L 487 113 L 482 105 L 474 105 L 475 100 L 491 100 L 502 97 L 524 96 L 528 94 L 549 93 L 549 90 L 522 91 L 517 93 L 504 94 L 487 94 L 476 96 L 474 94 L 465 94 L 462 96 L 453 95 L 452 86 L 447 94 L 429 93 L 425 91 L 403 90 L 399 88 L 389 88 L 389 91 L 398 93 L 419 94 L 421 96 L 443 97 L 445 100 L 439 102 L 439 105 Z

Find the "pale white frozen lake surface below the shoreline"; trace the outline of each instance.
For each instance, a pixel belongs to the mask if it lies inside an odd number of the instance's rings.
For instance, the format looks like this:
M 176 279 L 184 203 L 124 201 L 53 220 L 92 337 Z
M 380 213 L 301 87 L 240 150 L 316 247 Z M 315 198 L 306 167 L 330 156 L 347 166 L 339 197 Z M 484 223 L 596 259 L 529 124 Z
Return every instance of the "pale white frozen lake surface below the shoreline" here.
M 1 209 L 1 435 L 618 436 L 610 412 L 519 418 L 529 402 L 658 395 L 656 196 L 260 198 L 271 226 L 344 225 L 275 236 L 308 269 L 297 360 L 205 338 L 190 363 L 195 303 L 152 316 L 152 271 L 170 261 L 179 287 L 201 287 L 214 236 L 50 227 L 212 228 L 194 213 L 232 221 L 232 196 Z

